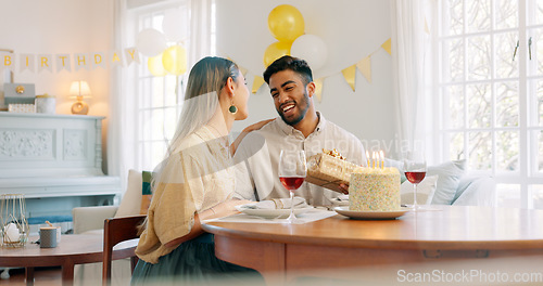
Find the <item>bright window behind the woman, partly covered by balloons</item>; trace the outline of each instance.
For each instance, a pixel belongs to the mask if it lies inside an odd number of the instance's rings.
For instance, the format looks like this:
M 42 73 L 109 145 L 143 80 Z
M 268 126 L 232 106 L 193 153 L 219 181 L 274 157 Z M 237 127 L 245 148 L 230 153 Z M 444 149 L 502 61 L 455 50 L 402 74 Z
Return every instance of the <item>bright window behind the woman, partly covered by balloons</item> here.
M 168 47 L 181 44 L 189 54 L 190 47 L 190 1 L 148 1 L 159 4 L 134 5 L 128 10 L 127 30 L 130 42 L 139 31 L 144 28 L 154 28 L 163 32 L 163 20 L 166 13 L 175 13 L 186 22 L 187 25 L 179 26 L 185 29 L 187 38 L 181 42 L 168 42 Z M 212 4 L 212 13 L 214 13 Z M 214 20 L 212 14 L 212 20 Z M 212 23 L 214 27 L 214 23 Z M 215 29 L 212 28 L 211 42 L 215 43 Z M 215 49 L 212 48 L 212 54 Z M 141 64 L 130 69 L 131 75 L 127 80 L 130 90 L 130 99 L 134 104 L 134 130 L 135 130 L 135 161 L 132 168 L 139 170 L 152 170 L 164 158 L 167 144 L 175 133 L 179 114 L 182 107 L 185 82 L 188 73 L 181 76 L 166 75 L 155 77 L 151 75 L 147 65 L 148 57 L 141 56 Z M 190 66 L 188 67 L 190 68 Z

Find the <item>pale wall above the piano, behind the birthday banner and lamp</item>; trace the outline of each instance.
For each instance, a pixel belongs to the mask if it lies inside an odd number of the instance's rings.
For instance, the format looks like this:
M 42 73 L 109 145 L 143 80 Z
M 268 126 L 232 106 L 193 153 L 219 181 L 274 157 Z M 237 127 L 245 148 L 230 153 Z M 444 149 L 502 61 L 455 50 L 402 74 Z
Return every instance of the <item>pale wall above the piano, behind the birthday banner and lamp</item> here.
M 113 50 L 113 1 L 111 0 L 0 0 L 0 49 L 16 54 L 59 54 L 108 52 Z M 110 70 L 97 68 L 71 73 L 14 74 L 14 81 L 35 83 L 36 94 L 56 96 L 56 113 L 71 114 L 74 100 L 68 99 L 73 80 L 87 80 L 92 99 L 89 115 L 108 116 Z M 108 119 L 103 121 L 103 142 Z M 104 152 L 106 145 L 103 144 Z M 105 156 L 103 156 L 105 164 Z

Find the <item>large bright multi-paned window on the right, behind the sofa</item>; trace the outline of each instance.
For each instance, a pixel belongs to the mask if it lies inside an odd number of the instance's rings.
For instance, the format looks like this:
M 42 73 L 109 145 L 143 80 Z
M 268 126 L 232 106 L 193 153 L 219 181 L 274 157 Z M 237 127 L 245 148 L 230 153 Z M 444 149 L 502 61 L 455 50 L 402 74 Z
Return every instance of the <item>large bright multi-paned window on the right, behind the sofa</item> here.
M 445 0 L 438 11 L 441 159 L 492 174 L 498 206 L 543 208 L 543 1 Z

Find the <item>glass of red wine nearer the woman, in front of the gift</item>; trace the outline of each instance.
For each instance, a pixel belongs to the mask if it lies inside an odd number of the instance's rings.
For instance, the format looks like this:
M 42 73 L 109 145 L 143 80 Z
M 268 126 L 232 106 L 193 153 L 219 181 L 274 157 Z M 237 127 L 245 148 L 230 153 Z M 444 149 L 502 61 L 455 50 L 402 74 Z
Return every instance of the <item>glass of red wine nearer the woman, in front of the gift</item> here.
M 307 173 L 305 152 L 293 150 L 281 150 L 279 155 L 279 180 L 285 188 L 290 191 L 290 216 L 288 223 L 296 223 L 294 216 L 294 192 L 302 185 Z

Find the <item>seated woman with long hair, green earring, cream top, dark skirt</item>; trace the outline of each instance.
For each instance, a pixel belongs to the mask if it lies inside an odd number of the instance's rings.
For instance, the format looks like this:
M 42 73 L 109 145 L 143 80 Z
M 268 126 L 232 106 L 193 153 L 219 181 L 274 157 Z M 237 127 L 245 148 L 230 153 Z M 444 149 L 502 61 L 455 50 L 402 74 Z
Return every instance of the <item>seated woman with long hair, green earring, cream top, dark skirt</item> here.
M 248 99 L 244 77 L 231 61 L 205 57 L 192 67 L 176 133 L 153 178 L 132 285 L 255 275 L 217 259 L 213 236 L 200 224 L 249 203 L 231 199 L 235 174 L 228 142 L 233 121 L 248 117 Z

